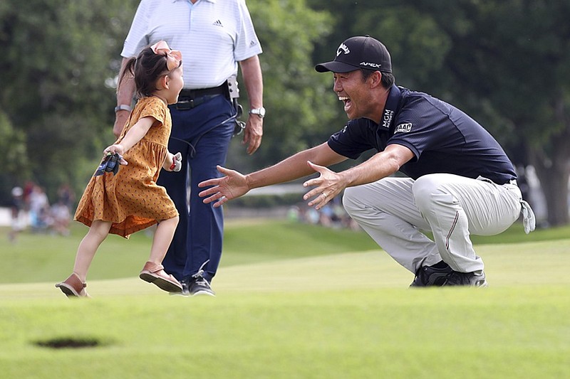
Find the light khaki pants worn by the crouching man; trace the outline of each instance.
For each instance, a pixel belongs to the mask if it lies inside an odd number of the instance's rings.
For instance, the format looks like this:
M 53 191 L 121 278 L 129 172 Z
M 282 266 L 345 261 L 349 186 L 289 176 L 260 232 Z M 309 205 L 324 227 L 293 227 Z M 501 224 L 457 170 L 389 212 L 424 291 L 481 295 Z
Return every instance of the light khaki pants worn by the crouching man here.
M 440 260 L 458 272 L 482 271 L 470 234 L 502 233 L 519 218 L 521 201 L 515 184 L 452 174 L 383 178 L 346 188 L 343 196 L 348 215 L 413 273 Z

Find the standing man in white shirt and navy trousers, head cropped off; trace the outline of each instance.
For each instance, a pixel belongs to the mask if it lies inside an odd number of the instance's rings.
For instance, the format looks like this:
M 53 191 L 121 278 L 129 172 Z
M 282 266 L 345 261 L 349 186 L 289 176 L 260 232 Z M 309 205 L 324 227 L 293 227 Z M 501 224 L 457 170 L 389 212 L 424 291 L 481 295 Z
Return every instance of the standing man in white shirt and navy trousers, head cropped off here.
M 257 38 L 244 0 L 142 0 L 123 47 L 126 58 L 157 41 L 184 56 L 185 88 L 170 105 L 168 148 L 182 152 L 181 173 L 160 174 L 180 213 L 180 223 L 163 265 L 184 287 L 183 294 L 214 295 L 210 282 L 222 255 L 222 208 L 200 201 L 197 183 L 218 176 L 237 127 L 236 75 L 242 70 L 249 97 L 243 144 L 254 154 L 263 134 L 263 80 Z M 130 114 L 134 83 L 117 94 L 113 132 L 118 136 Z M 188 186 L 190 184 L 190 187 Z M 190 190 L 190 203 L 187 199 Z

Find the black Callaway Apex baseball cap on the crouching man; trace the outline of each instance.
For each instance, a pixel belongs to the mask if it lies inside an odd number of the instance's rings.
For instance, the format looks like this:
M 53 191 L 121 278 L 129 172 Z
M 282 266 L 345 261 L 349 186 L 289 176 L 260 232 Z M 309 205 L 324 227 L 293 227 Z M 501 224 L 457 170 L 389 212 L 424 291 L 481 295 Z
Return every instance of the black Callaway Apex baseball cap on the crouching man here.
M 351 37 L 338 46 L 334 60 L 315 66 L 319 73 L 348 73 L 359 68 L 392 73 L 390 53 L 380 41 L 371 36 Z

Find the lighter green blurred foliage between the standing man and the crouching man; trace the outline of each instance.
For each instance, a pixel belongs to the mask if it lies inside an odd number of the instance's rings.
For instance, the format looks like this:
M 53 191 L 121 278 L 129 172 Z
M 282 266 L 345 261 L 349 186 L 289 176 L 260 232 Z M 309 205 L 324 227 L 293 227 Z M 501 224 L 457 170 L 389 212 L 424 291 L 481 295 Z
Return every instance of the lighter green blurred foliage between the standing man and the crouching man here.
M 314 43 L 331 29 L 330 16 L 309 9 L 305 0 L 249 0 L 247 6 L 264 50 L 259 60 L 267 115 L 259 150 L 247 157 L 241 144 L 232 144 L 227 165 L 249 172 L 322 143 L 341 126 L 331 129 L 323 122 L 338 100 L 331 78 L 317 75 L 311 60 Z M 242 87 L 240 102 L 247 113 L 245 93 Z

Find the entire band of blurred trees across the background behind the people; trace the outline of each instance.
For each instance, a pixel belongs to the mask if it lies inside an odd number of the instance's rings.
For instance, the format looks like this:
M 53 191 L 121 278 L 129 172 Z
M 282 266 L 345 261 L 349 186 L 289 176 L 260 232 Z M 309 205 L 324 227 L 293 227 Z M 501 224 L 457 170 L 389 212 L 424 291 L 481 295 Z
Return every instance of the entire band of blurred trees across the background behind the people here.
M 138 2 L 0 2 L 0 164 L 9 167 L 0 174 L 0 200 L 29 178 L 51 195 L 64 182 L 83 189 L 100 149 L 113 142 L 113 79 Z M 346 114 L 332 75 L 314 65 L 333 59 L 349 36 L 370 34 L 390 50 L 399 85 L 479 120 L 516 164 L 537 169 L 549 222 L 569 222 L 561 204 L 570 176 L 570 1 L 247 4 L 264 48 L 268 112 L 259 151 L 247 156 L 234 143 L 228 166 L 259 169 L 341 129 Z

